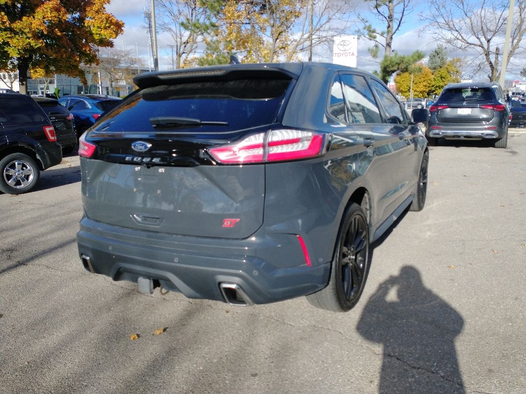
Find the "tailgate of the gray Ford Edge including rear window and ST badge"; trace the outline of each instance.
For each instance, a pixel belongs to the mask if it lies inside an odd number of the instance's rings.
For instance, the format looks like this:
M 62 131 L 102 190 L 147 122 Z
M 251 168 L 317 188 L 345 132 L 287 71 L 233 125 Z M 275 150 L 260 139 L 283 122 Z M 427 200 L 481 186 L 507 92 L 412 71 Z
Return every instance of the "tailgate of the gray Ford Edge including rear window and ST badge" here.
M 263 222 L 265 164 L 207 153 L 268 130 L 291 78 L 265 73 L 147 87 L 86 134 L 83 202 L 93 220 L 167 234 L 246 238 Z

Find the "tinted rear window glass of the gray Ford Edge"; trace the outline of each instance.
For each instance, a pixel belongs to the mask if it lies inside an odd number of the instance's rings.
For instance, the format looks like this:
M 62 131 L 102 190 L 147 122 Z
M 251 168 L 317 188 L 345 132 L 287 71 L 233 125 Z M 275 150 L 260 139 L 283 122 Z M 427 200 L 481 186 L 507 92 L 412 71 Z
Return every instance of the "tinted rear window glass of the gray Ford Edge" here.
M 236 79 L 146 88 L 96 130 L 219 133 L 269 125 L 289 85 L 288 79 Z

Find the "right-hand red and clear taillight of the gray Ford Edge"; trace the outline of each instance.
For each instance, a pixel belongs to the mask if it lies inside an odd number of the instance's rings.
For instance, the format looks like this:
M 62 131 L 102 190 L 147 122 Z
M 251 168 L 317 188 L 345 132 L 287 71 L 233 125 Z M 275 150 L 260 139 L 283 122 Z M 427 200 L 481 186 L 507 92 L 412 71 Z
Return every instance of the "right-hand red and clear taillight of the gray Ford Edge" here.
M 255 134 L 239 142 L 210 148 L 209 152 L 220 163 L 244 164 L 316 157 L 321 153 L 322 147 L 322 134 L 279 129 Z

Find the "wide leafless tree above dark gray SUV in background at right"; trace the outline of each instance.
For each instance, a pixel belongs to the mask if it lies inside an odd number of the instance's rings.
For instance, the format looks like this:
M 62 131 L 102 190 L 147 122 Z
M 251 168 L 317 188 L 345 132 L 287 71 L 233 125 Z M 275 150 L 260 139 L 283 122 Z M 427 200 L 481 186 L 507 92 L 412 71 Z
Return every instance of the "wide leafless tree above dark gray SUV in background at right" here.
M 498 81 L 513 55 L 523 52 L 521 40 L 526 33 L 526 0 L 515 2 L 508 62 L 501 64 L 505 30 L 508 22 L 508 0 L 429 0 L 430 11 L 422 15 L 437 28 L 439 41 L 463 53 L 482 56 L 474 72 L 484 69 L 490 81 Z M 477 65 L 476 65 L 477 66 Z M 505 71 L 504 71 L 505 72 Z

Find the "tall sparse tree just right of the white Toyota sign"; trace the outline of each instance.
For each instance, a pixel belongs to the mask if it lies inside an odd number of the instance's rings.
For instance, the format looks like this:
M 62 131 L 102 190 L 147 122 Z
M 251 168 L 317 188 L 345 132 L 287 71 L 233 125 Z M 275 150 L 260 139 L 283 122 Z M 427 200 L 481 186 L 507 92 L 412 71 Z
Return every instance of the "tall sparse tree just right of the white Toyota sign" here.
M 413 11 L 411 0 L 366 0 L 369 9 L 380 22 L 385 23 L 386 29 L 378 31 L 370 23 L 370 20 L 359 15 L 362 24 L 361 35 L 375 43 L 370 50 L 372 57 L 378 56 L 380 46 L 385 49 L 384 56 L 391 56 L 393 37 L 402 26 L 404 18 Z

